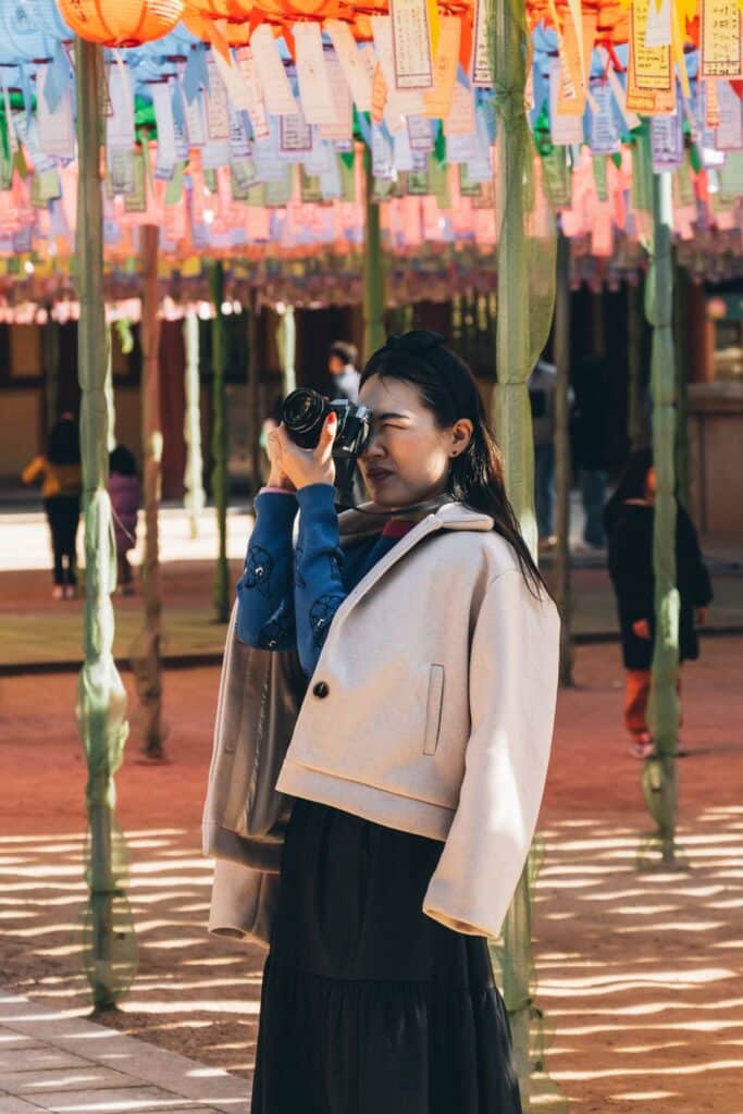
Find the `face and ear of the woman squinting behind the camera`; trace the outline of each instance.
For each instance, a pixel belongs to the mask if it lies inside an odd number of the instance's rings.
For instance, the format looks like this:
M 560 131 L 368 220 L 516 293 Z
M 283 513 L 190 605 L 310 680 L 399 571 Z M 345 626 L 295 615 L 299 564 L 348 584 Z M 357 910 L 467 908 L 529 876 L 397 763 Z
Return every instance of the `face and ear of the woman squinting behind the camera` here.
M 371 375 L 359 401 L 372 411 L 371 436 L 359 460 L 371 499 L 385 510 L 440 495 L 454 456 L 472 436 L 463 418 L 439 429 L 412 383 Z

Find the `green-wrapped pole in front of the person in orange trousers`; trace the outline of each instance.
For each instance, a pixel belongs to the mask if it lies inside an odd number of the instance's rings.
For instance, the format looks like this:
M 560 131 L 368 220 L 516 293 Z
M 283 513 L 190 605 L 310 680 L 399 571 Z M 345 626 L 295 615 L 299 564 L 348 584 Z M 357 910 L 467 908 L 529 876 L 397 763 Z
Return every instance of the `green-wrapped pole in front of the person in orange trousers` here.
M 673 343 L 673 258 L 671 174 L 653 175 L 654 244 L 648 276 L 647 315 L 653 325 L 651 392 L 653 459 L 656 476 L 653 530 L 655 644 L 648 723 L 656 758 L 643 774 L 645 798 L 657 824 L 655 840 L 663 862 L 675 863 L 676 749 L 678 743 L 678 612 L 676 587 L 676 363 Z

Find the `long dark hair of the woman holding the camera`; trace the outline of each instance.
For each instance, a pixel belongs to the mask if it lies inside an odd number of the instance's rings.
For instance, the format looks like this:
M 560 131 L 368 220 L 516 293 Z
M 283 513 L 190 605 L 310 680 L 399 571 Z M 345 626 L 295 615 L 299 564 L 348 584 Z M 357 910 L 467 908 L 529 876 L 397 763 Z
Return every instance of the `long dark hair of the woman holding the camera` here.
M 363 387 L 371 375 L 416 387 L 441 429 L 469 418 L 472 437 L 452 460 L 448 491 L 453 499 L 493 519 L 496 532 L 514 548 L 529 589 L 539 596 L 545 584 L 508 501 L 502 455 L 488 424 L 475 375 L 465 361 L 444 348 L 439 333 L 421 329 L 388 338 L 366 362 L 359 385 Z

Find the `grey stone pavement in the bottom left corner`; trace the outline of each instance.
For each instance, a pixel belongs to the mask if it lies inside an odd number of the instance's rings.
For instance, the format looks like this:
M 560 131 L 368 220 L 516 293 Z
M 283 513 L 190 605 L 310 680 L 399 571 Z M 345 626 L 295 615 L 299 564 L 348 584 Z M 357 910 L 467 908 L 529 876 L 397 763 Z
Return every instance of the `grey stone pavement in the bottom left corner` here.
M 248 1084 L 0 990 L 0 1114 L 250 1114 Z

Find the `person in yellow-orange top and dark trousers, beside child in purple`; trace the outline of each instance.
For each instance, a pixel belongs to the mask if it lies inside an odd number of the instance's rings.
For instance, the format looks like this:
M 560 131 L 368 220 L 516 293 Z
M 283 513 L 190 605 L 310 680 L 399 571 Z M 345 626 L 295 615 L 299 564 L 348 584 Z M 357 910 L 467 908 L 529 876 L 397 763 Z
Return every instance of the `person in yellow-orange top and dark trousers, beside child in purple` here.
M 52 597 L 74 599 L 77 592 L 76 540 L 82 471 L 80 433 L 72 414 L 62 414 L 53 424 L 46 453 L 35 457 L 26 466 L 22 479 L 25 483 L 41 482 L 53 554 Z

